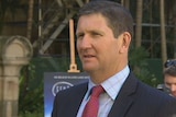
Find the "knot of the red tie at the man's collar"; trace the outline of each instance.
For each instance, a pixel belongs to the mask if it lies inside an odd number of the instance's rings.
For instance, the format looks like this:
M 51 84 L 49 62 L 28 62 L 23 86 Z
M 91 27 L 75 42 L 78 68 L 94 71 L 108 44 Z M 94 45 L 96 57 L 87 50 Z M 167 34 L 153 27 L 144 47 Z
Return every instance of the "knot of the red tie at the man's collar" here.
M 91 95 L 95 96 L 95 97 L 99 97 L 99 95 L 103 92 L 105 92 L 103 87 L 101 85 L 97 85 L 97 86 L 92 87 L 92 94 Z

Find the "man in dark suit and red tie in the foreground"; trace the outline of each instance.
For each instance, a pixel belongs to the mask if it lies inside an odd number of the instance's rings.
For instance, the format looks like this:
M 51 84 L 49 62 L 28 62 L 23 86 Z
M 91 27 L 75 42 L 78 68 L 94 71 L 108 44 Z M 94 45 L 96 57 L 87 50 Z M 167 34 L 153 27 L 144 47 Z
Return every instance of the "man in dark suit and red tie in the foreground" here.
M 98 114 L 88 117 L 176 117 L 176 100 L 139 81 L 129 68 L 133 20 L 127 9 L 105 0 L 87 3 L 80 9 L 76 36 L 90 80 L 58 92 L 52 117 L 86 117 L 95 85 L 105 93 L 98 112 L 90 110 L 94 106 L 88 110 Z

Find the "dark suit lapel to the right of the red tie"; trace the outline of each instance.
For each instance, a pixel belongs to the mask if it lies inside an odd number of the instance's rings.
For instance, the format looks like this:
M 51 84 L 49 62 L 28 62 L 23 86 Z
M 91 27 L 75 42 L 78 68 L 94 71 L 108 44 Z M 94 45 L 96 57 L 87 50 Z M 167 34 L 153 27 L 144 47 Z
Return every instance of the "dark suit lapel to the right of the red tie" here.
M 108 117 L 124 117 L 134 102 L 138 80 L 132 73 L 122 85 Z

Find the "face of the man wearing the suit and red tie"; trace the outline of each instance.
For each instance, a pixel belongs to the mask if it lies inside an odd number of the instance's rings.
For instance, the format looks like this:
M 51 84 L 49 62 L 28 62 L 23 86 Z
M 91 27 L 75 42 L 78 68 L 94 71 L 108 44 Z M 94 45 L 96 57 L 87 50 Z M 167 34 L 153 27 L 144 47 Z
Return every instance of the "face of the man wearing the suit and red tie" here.
M 123 60 L 121 54 L 123 36 L 116 38 L 102 15 L 80 16 L 76 35 L 77 50 L 84 70 L 110 72 L 110 70 L 118 69 Z

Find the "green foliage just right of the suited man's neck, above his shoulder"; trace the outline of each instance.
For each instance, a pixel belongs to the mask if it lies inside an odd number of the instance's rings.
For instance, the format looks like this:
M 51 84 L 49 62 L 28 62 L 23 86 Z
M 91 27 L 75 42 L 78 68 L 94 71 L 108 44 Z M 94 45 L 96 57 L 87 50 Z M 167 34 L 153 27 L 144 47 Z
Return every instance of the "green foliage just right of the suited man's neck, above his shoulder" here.
M 136 77 L 147 83 L 151 86 L 156 86 L 158 84 L 158 79 L 150 72 L 147 65 L 148 52 L 143 48 L 132 48 L 130 51 L 130 67 L 136 74 Z

